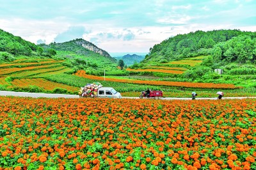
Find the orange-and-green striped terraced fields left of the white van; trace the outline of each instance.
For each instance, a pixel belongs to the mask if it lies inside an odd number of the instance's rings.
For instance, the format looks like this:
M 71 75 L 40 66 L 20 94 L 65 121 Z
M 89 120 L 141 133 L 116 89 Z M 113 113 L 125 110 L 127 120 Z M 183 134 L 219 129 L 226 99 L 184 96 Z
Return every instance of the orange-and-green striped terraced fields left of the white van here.
M 61 88 L 76 93 L 77 87 L 45 79 L 51 75 L 70 72 L 71 69 L 63 66 L 63 62 L 63 60 L 54 59 L 19 59 L 11 63 L 0 64 L 0 85 L 5 85 L 8 89 L 24 89 L 29 88 L 29 86 L 36 86 L 45 91 Z M 10 82 L 6 82 L 6 77 L 9 77 Z

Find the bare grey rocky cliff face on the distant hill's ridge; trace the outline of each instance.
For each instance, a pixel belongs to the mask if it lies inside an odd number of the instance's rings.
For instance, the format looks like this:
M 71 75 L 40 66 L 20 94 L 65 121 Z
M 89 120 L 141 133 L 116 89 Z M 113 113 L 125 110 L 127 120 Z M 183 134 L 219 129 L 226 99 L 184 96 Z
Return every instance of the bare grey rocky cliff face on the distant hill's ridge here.
M 91 42 L 87 42 L 86 40 L 83 40 L 83 39 L 77 39 L 76 43 L 78 45 L 81 45 L 85 49 L 92 50 L 93 52 L 99 53 L 101 56 L 106 56 L 107 58 L 111 58 L 111 56 L 108 54 L 108 52 L 106 52 L 106 50 L 100 49 L 99 47 L 97 47 Z

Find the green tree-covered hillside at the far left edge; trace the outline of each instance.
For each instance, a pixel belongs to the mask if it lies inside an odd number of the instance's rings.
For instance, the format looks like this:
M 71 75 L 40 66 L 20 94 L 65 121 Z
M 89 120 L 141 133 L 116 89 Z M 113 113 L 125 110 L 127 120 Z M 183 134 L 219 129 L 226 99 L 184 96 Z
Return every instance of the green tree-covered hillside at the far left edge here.
M 0 52 L 8 52 L 13 55 L 30 56 L 33 51 L 37 50 L 35 43 L 23 40 L 19 36 L 0 29 Z

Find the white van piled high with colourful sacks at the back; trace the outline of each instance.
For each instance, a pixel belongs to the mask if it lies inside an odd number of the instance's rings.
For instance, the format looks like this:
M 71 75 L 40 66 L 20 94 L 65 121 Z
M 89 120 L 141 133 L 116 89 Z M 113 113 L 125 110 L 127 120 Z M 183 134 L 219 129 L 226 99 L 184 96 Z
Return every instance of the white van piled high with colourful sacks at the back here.
M 99 98 L 122 98 L 122 95 L 110 87 L 102 87 L 99 82 L 87 84 L 79 90 L 80 97 L 99 97 Z

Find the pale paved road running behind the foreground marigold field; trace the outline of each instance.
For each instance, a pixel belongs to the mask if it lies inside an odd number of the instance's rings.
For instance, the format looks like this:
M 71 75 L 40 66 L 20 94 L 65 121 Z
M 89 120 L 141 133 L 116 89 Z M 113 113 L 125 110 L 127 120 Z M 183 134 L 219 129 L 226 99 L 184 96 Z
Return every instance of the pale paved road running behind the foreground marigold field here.
M 28 93 L 28 92 L 15 92 L 15 91 L 0 91 L 0 96 L 15 96 L 15 97 L 45 97 L 45 98 L 79 98 L 79 95 L 62 95 L 62 94 L 51 94 L 51 93 Z M 123 98 L 136 98 L 139 97 L 123 97 Z M 223 97 L 222 99 L 234 99 L 234 98 L 256 98 L 256 97 Z M 145 98 L 149 99 L 149 98 Z M 191 98 L 159 98 L 159 100 L 191 100 Z M 217 97 L 214 98 L 196 98 L 196 100 L 217 100 Z

